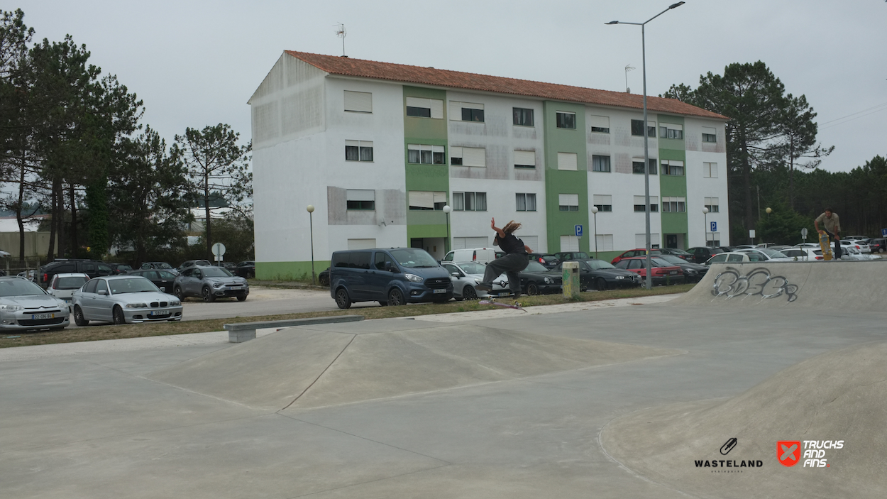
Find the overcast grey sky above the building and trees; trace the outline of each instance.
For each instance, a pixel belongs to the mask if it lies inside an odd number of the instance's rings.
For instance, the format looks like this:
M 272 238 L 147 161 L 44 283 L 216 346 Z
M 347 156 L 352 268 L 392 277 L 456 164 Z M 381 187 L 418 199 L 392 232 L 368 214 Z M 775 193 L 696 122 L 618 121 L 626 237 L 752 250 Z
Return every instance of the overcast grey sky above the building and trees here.
M 284 50 L 640 93 L 640 27 L 673 0 L 19 0 L 35 39 L 66 34 L 145 101 L 144 123 L 172 142 L 228 123 L 250 137 L 247 99 Z M 648 95 L 763 60 L 819 113 L 836 146 L 821 168 L 887 154 L 887 3 L 689 0 L 647 26 Z

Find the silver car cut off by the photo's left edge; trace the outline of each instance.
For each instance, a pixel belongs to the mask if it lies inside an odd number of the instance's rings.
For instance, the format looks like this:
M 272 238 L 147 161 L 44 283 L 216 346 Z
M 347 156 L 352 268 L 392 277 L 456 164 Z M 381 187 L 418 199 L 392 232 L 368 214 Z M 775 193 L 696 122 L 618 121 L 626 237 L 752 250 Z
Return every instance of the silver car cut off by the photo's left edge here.
M 64 300 L 33 281 L 0 277 L 0 331 L 65 329 L 70 313 Z

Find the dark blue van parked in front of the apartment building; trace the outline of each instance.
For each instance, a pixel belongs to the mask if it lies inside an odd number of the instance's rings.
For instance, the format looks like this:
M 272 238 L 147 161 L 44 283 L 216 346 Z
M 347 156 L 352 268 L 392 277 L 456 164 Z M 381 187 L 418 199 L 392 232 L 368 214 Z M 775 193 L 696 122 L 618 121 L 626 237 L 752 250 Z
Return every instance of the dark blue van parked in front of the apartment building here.
M 452 282 L 425 249 L 352 249 L 333 253 L 330 296 L 339 308 L 356 302 L 443 303 L 452 297 Z

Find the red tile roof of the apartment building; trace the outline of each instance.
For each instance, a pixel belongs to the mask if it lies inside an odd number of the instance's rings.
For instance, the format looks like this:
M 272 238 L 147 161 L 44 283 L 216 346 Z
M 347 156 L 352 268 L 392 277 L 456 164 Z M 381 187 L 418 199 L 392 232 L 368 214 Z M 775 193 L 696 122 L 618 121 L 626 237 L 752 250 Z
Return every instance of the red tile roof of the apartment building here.
M 286 51 L 286 53 L 333 75 L 362 76 L 394 82 L 420 83 L 474 91 L 493 91 L 541 99 L 584 102 L 601 106 L 643 108 L 643 97 L 633 93 L 586 89 L 584 87 L 517 80 L 501 76 L 475 75 L 474 73 L 462 73 L 460 71 L 435 69 L 433 67 L 406 66 L 404 64 L 351 59 L 308 52 Z M 702 116 L 717 120 L 729 119 L 726 116 L 706 111 L 701 107 L 695 107 L 677 99 L 648 96 L 647 108 L 656 113 Z

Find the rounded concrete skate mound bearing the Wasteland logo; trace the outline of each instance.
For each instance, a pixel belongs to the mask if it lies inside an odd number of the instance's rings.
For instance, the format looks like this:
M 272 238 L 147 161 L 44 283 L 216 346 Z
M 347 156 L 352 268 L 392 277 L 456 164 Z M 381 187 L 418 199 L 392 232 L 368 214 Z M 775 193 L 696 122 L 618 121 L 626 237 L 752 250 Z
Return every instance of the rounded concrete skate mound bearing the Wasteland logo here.
M 608 424 L 600 444 L 641 476 L 699 497 L 887 497 L 887 343 L 827 352 L 731 400 L 649 408 Z M 727 440 L 736 445 L 727 455 Z M 787 467 L 777 441 L 800 440 Z M 807 467 L 804 440 L 844 440 Z M 697 467 L 696 461 L 761 467 Z

